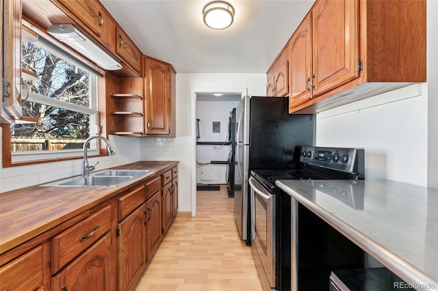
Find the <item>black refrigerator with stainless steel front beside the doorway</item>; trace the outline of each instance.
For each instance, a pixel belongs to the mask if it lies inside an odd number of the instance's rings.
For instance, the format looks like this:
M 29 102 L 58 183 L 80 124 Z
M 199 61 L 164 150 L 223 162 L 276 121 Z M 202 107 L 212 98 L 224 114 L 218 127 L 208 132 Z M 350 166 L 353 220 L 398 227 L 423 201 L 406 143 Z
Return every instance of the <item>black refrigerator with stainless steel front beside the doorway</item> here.
M 234 217 L 250 245 L 248 177 L 252 169 L 297 169 L 300 146 L 314 146 L 315 115 L 288 114 L 285 97 L 245 96 L 236 107 Z

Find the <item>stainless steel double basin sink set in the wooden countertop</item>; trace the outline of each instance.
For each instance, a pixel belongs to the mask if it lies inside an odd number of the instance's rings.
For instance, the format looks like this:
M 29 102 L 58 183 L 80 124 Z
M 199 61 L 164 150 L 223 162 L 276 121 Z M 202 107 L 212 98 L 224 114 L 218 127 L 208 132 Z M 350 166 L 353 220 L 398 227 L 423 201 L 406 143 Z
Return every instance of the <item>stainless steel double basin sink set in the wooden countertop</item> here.
M 41 186 L 82 186 L 82 187 L 100 187 L 100 186 L 118 186 L 124 182 L 142 176 L 149 170 L 130 170 L 130 169 L 110 169 L 88 177 L 79 177 L 61 180 Z

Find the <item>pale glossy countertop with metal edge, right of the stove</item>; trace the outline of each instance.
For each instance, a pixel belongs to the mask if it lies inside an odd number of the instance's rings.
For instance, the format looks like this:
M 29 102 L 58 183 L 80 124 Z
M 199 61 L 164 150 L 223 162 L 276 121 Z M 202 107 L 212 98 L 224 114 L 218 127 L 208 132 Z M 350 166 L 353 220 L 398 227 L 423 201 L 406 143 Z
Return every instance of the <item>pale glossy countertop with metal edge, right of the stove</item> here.
M 438 191 L 389 180 L 276 185 L 414 288 L 438 290 Z

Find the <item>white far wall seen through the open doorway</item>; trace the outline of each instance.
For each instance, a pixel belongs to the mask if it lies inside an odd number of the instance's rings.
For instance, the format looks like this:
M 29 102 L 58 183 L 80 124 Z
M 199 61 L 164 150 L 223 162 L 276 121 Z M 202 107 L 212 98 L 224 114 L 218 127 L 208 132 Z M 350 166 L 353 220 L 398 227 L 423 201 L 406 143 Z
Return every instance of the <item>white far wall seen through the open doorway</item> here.
M 239 104 L 239 100 L 197 100 L 196 118 L 200 119 L 199 132 L 201 137 L 196 141 L 218 141 L 222 143 L 229 141 L 229 115 L 237 104 Z M 220 133 L 213 133 L 213 122 L 220 122 Z M 228 145 L 196 145 L 196 161 L 201 164 L 210 161 L 228 161 L 230 151 L 231 146 Z M 196 164 L 196 183 L 226 184 L 228 180 L 227 169 L 228 166 L 222 164 Z

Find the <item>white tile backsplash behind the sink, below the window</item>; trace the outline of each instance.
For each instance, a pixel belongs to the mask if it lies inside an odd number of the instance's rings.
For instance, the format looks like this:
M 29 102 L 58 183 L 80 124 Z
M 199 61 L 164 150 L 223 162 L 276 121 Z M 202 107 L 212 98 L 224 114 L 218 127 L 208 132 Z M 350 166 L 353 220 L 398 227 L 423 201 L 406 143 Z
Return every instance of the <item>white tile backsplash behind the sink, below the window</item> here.
M 114 156 L 88 158 L 90 165 L 94 165 L 99 161 L 96 170 L 140 161 L 140 139 L 136 137 L 118 137 L 110 135 L 110 143 L 116 150 Z M 21 167 L 1 167 L 0 193 L 79 175 L 82 172 L 81 163 L 82 160 L 77 159 Z

